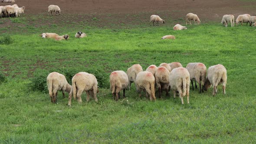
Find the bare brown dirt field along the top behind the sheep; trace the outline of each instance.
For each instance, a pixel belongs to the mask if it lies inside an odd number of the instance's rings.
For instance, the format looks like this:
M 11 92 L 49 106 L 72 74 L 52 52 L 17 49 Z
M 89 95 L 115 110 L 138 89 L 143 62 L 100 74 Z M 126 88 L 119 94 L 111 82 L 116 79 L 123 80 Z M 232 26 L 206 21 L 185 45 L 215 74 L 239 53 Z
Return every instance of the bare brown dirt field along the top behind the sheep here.
M 251 0 L 252 1 L 252 0 Z M 10 3 L 1 3 L 8 5 Z M 26 13 L 46 13 L 50 4 L 58 5 L 62 13 L 127 14 L 163 13 L 172 18 L 197 13 L 202 19 L 217 20 L 223 14 L 237 16 L 242 13 L 254 15 L 250 0 L 16 0 L 18 6 L 25 6 Z M 149 16 L 148 16 L 149 17 Z

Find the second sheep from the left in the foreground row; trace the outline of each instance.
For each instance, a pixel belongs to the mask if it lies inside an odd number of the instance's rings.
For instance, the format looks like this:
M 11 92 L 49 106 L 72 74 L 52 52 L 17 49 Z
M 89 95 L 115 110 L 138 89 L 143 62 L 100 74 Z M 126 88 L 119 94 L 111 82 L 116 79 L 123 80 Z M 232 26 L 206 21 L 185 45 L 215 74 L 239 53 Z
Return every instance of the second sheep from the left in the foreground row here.
M 79 72 L 75 74 L 72 78 L 72 91 L 69 93 L 69 106 L 71 105 L 72 95 L 74 99 L 76 99 L 79 103 L 82 102 L 82 92 L 85 91 L 87 94 L 86 101 L 88 102 L 90 100 L 90 92 L 92 92 L 91 95 L 93 95 L 94 100 L 97 102 L 98 98 L 96 96 L 96 93 L 98 92 L 98 82 L 94 75 L 89 74 L 87 72 Z

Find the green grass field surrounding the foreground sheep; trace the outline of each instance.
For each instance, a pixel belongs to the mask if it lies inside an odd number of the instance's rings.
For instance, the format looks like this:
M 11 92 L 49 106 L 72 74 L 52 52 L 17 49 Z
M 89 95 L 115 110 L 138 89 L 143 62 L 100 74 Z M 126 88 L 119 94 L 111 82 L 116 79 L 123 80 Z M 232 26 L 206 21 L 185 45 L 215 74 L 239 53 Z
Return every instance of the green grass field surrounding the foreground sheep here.
M 0 143 L 255 143 L 255 28 L 217 23 L 187 28 L 91 27 L 85 39 L 75 39 L 75 29 L 62 30 L 71 36 L 68 41 L 42 39 L 37 28 L 12 34 L 13 43 L 0 45 L 0 72 L 7 76 L 0 85 Z M 176 40 L 161 39 L 169 34 Z M 126 99 L 112 99 L 112 71 L 176 61 L 184 67 L 224 65 L 226 95 L 221 86 L 215 97 L 212 88 L 203 94 L 190 88 L 189 105 L 165 95 L 152 102 L 138 98 L 132 84 Z M 81 105 L 72 100 L 68 107 L 59 92 L 58 104 L 51 104 L 47 93 L 30 88 L 33 76 L 66 69 L 69 77 L 80 71 L 97 75 L 98 103 L 85 102 L 83 93 Z

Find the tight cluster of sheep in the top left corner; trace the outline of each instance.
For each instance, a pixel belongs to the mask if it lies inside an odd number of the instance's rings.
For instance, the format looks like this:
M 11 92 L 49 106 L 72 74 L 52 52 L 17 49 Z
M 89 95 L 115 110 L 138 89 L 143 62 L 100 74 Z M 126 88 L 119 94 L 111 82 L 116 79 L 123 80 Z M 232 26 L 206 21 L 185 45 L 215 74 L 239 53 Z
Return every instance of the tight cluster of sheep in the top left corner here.
M 2 1 L 3 2 L 3 1 Z M 1 17 L 18 17 L 20 13 L 24 13 L 25 7 L 18 7 L 18 5 L 13 4 L 7 6 L 0 6 L 0 16 Z

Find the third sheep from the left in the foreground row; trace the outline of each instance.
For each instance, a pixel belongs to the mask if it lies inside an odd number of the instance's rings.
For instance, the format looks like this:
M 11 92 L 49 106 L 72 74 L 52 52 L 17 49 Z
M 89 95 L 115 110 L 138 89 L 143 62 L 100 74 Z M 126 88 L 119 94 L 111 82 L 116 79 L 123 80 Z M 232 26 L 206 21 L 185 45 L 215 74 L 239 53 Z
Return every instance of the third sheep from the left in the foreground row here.
M 118 101 L 120 98 L 119 92 L 123 90 L 123 97 L 125 98 L 125 89 L 129 85 L 128 75 L 124 71 L 115 71 L 109 75 L 110 90 L 113 98 Z

